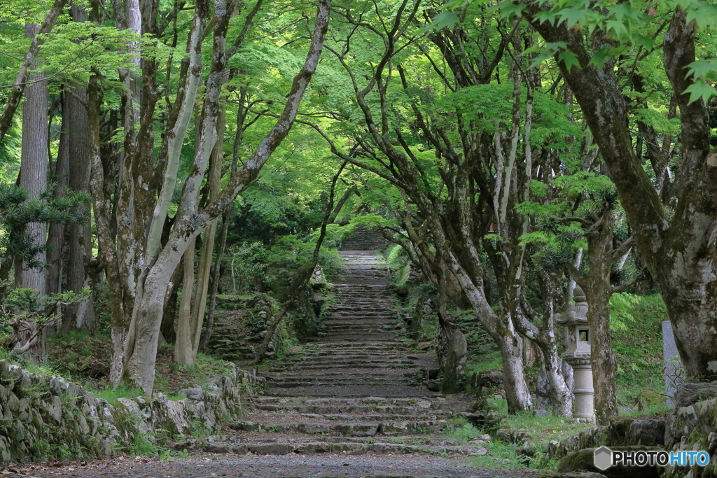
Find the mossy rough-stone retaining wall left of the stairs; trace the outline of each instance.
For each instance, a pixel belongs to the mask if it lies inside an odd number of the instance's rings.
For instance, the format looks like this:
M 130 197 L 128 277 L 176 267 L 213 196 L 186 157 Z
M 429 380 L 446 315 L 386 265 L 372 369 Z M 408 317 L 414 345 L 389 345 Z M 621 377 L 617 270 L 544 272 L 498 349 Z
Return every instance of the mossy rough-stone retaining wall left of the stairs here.
M 212 434 L 237 416 L 240 388 L 260 381 L 232 364 L 228 376 L 179 391 L 181 400 L 157 393 L 152 401 L 120 398 L 111 405 L 64 378 L 0 360 L 0 461 L 112 457 L 142 438 L 161 442 L 197 429 Z

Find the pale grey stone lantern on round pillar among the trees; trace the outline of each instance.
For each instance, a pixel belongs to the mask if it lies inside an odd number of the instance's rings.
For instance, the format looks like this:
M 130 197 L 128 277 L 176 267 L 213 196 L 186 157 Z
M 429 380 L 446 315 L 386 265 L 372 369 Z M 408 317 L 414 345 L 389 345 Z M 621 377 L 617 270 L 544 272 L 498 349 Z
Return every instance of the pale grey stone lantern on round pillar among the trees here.
M 573 394 L 574 414 L 578 421 L 595 421 L 594 397 L 592 386 L 592 365 L 590 363 L 590 328 L 587 325 L 587 297 L 585 292 L 575 286 L 574 305 L 568 307 L 565 315 L 556 317 L 559 324 L 567 328 L 564 360 L 573 368 L 575 386 Z

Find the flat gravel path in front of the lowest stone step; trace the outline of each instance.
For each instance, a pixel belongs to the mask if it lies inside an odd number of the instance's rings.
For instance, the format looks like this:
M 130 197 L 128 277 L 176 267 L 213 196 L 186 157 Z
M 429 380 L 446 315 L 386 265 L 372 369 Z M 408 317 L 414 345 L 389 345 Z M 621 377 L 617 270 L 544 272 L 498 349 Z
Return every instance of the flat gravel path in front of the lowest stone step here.
M 83 462 L 84 463 L 84 462 Z M 431 455 L 383 455 L 341 457 L 340 455 L 199 457 L 162 462 L 159 459 L 117 459 L 61 467 L 16 469 L 35 478 L 209 478 L 209 477 L 341 477 L 341 478 L 532 478 L 540 472 L 531 469 L 480 469 L 465 458 Z

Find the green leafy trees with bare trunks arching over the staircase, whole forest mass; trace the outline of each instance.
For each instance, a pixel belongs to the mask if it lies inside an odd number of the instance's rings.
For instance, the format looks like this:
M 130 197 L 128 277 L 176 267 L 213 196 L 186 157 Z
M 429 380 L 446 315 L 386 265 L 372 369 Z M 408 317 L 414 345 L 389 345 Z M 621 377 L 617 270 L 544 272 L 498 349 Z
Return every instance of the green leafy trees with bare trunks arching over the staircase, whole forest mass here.
M 267 294 L 262 360 L 361 227 L 431 301 L 439 358 L 455 330 L 491 344 L 511 413 L 536 363 L 571 413 L 575 285 L 599 420 L 635 307 L 714 380 L 716 20 L 700 0 L 4 1 L 6 353 L 47 363 L 82 330 L 111 343 L 108 383 L 151 394 L 161 345 L 193 365 L 218 297 Z

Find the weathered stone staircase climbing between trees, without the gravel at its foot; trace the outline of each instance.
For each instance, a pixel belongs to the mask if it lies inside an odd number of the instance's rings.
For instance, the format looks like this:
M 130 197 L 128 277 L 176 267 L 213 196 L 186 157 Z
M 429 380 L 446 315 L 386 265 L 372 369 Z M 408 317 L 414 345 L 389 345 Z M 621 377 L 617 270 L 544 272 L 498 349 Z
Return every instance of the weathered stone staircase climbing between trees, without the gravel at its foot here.
M 369 251 L 341 256 L 347 269 L 318 340 L 263 373 L 269 396 L 247 397 L 242 420 L 229 424 L 235 436 L 208 441 L 206 451 L 486 454 L 480 442 L 442 439 L 470 402 L 424 386 L 435 358 L 402 340 L 384 262 Z

